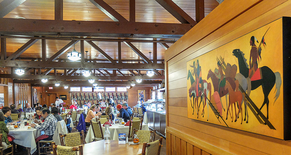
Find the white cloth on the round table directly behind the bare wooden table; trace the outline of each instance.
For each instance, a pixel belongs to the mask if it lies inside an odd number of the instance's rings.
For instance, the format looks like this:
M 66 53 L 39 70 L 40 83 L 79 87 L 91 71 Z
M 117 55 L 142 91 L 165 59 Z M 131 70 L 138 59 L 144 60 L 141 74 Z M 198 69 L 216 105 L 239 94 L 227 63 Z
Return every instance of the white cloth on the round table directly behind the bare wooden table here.
M 149 130 L 148 124 L 143 124 L 141 129 L 142 130 Z M 103 132 L 103 134 L 105 132 L 105 126 L 103 126 L 103 124 L 102 124 L 102 132 Z M 129 126 L 114 124 L 112 126 L 109 126 L 109 132 L 110 132 L 111 140 L 118 140 L 119 133 L 125 133 L 126 135 L 128 135 Z M 86 143 L 93 142 L 94 138 L 95 137 L 94 137 L 94 133 L 92 130 L 92 126 L 90 126 L 88 133 L 86 135 L 85 141 L 86 141 Z

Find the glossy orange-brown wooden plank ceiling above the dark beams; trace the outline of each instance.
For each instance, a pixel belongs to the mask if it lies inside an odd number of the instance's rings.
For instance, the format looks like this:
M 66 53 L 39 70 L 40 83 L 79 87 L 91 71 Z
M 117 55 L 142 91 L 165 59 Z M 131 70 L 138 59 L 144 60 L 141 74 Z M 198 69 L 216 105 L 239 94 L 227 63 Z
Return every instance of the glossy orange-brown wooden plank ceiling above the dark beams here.
M 8 0 L 0 0 L 0 3 Z M 24 0 L 22 0 L 24 1 Z M 103 13 L 97 6 L 95 6 L 91 1 L 96 0 L 63 0 L 63 20 L 64 21 L 108 21 L 112 22 L 113 20 Z M 100 0 L 97 0 L 100 1 Z M 101 0 L 102 1 L 102 0 Z M 158 1 L 168 1 L 168 0 L 135 0 L 135 22 L 148 22 L 148 23 L 173 23 L 180 24 L 181 21 L 178 20 L 177 17 L 174 17 L 169 10 L 165 9 L 165 6 L 161 6 Z M 129 19 L 129 0 L 104 0 L 111 8 L 113 8 L 117 13 L 123 16 L 126 20 L 130 22 Z M 196 4 L 195 0 L 173 0 L 173 2 L 180 7 L 185 13 L 187 13 L 192 19 L 196 20 Z M 201 0 L 200 0 L 201 2 Z M 204 0 L 204 15 L 208 15 L 215 7 L 217 7 L 219 3 L 216 0 Z M 173 5 L 172 5 L 173 6 Z M 1 6 L 0 6 L 1 9 Z M 1 11 L 1 10 L 0 10 Z M 179 11 L 178 11 L 179 12 Z M 185 16 L 185 15 L 184 15 Z M 201 16 L 201 15 L 200 15 Z M 25 18 L 25 19 L 33 19 L 33 20 L 55 20 L 55 0 L 26 0 L 15 9 L 6 14 L 3 19 L 15 19 L 15 18 Z M 1 18 L 0 18 L 1 19 Z M 191 20 L 192 20 L 191 19 Z M 194 21 L 193 20 L 193 21 Z M 194 21 L 195 22 L 195 21 Z M 0 21 L 1 24 L 1 21 Z M 9 23 L 10 24 L 10 23 Z M 133 23 L 134 24 L 134 23 Z M 183 23 L 182 23 L 183 24 Z M 192 23 L 191 23 L 192 24 Z M 3 25 L 3 23 L 2 23 Z M 161 25 L 161 24 L 160 24 Z M 44 25 L 45 26 L 45 25 Z M 157 27 L 157 26 L 156 26 Z M 192 26 L 191 26 L 192 27 Z M 1 28 L 0 28 L 1 29 Z M 112 28 L 114 31 L 114 28 Z M 150 29 L 150 28 L 148 28 Z M 160 29 L 163 29 L 162 27 Z M 11 28 L 13 30 L 13 28 Z M 10 31 L 10 29 L 8 30 Z M 99 31 L 99 30 L 98 30 Z M 116 31 L 119 31 L 116 29 Z M 138 31 L 136 29 L 136 31 Z M 171 30 L 172 31 L 172 30 Z M 178 30 L 177 30 L 178 31 Z M 81 31 L 80 31 L 81 32 Z M 174 33 L 174 31 L 173 31 Z M 5 33 L 3 33 L 5 34 Z M 2 35 L 3 35 L 2 34 Z M 130 34 L 130 33 L 129 33 Z M 30 35 L 23 36 L 23 34 L 13 34 L 12 36 L 24 37 L 24 38 L 6 38 L 6 55 L 7 57 L 11 56 L 15 51 L 17 51 L 20 47 L 22 47 L 25 43 L 27 43 L 30 38 L 25 37 L 59 37 L 66 38 L 68 40 L 46 40 L 46 57 L 49 59 L 53 57 L 53 55 L 61 50 L 65 45 L 70 43 L 72 38 L 76 37 L 76 40 L 81 38 L 91 38 L 91 39 L 121 39 L 121 60 L 123 63 L 141 63 L 145 62 L 142 57 L 140 57 L 136 52 L 132 50 L 128 45 L 123 43 L 124 39 L 133 39 L 133 40 L 149 40 L 148 42 L 132 42 L 132 44 L 141 51 L 142 54 L 145 55 L 150 60 L 153 60 L 153 51 L 154 45 L 151 42 L 152 40 L 157 41 L 165 41 L 168 46 L 171 46 L 176 40 L 178 40 L 179 35 L 168 35 L 166 37 L 153 37 L 153 35 L 146 35 L 142 38 L 140 36 L 133 35 L 130 38 L 126 37 L 112 37 L 110 34 L 108 36 L 92 36 L 92 35 L 82 35 L 78 36 L 78 34 L 74 35 L 74 32 L 71 32 L 70 35 L 62 34 L 59 35 Z M 1 35 L 1 33 L 0 33 Z M 6 35 L 6 34 L 5 34 Z M 9 36 L 9 35 L 8 35 Z M 182 35 L 180 35 L 182 36 Z M 118 42 L 114 41 L 93 41 L 98 47 L 100 47 L 109 57 L 113 60 L 118 61 Z M 0 46 L 1 47 L 1 46 Z M 56 60 L 60 61 L 68 61 L 67 53 L 71 52 L 74 47 L 70 47 L 65 53 L 60 55 Z M 77 51 L 81 51 L 80 42 L 75 44 L 75 49 Z M 163 63 L 164 61 L 164 53 L 165 48 L 162 47 L 161 44 L 157 43 L 157 63 Z M 88 51 L 84 53 L 85 61 L 91 62 L 109 62 L 100 52 L 98 52 L 94 47 L 92 47 L 89 43 L 84 41 L 84 51 Z M 151 54 L 149 52 L 152 52 Z M 42 58 L 42 40 L 38 40 L 28 49 L 26 49 L 16 60 L 36 60 Z M 1 58 L 2 59 L 2 58 Z M 78 66 L 72 66 L 72 68 Z M 86 69 L 86 68 L 85 68 Z M 36 69 L 35 69 L 36 70 Z M 43 73 L 46 69 L 42 69 L 41 73 Z M 114 69 L 108 69 L 110 74 L 113 74 Z M 63 69 L 56 69 L 57 74 L 63 74 Z M 83 70 L 78 70 L 76 73 L 81 74 Z M 133 70 L 132 70 L 133 71 Z M 36 73 L 34 70 L 30 70 L 32 74 Z M 101 70 L 103 74 L 107 74 L 105 71 Z M 132 73 L 127 70 L 121 70 L 121 73 L 125 75 L 131 75 Z M 138 73 L 138 71 L 134 71 Z M 142 70 L 140 73 L 145 74 L 145 70 Z M 98 73 L 96 71 L 96 73 Z M 54 70 L 50 71 L 49 74 L 54 74 Z M 48 75 L 49 75 L 48 74 Z M 160 71 L 159 74 L 163 73 Z M 157 75 L 159 75 L 157 74 Z M 76 75 L 76 74 L 75 74 Z M 118 76 L 124 76 L 117 72 Z M 104 75 L 101 75 L 104 76 Z

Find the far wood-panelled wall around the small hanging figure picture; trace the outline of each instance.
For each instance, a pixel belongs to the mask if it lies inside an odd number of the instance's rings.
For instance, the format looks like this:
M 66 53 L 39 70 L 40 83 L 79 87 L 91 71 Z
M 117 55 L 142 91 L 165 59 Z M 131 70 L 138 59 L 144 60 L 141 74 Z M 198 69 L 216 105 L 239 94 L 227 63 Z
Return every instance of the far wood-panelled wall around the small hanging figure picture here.
M 138 101 L 138 93 L 137 90 L 145 90 L 145 101 L 148 101 L 148 99 L 150 99 L 150 89 L 152 89 L 152 87 L 132 87 L 131 89 L 127 89 L 128 91 L 128 106 L 132 107 L 135 106 L 137 104 Z

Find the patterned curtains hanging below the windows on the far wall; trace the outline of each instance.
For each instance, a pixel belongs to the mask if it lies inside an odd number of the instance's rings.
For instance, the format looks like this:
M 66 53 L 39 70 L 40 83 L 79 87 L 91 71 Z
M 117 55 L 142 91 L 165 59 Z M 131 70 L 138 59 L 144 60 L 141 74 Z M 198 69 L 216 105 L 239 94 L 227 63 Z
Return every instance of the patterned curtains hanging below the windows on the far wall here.
M 98 103 L 98 100 L 106 100 L 113 97 L 113 100 L 118 103 L 128 100 L 128 92 L 100 92 L 101 97 L 99 97 L 99 92 L 70 92 L 71 100 L 76 99 L 78 105 L 83 105 L 84 102 L 91 102 L 91 105 Z

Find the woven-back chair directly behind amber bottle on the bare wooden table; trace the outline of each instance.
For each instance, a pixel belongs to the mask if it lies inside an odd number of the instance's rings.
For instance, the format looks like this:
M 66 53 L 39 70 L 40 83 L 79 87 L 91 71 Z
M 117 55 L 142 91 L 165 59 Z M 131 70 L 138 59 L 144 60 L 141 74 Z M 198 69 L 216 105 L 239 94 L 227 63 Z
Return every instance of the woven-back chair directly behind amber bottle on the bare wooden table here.
M 137 137 L 139 138 L 140 143 L 153 142 L 155 140 L 155 137 L 156 137 L 156 129 L 154 129 L 153 131 L 149 131 L 149 130 L 136 130 L 135 128 L 133 128 L 132 131 L 133 131 L 132 135 L 136 134 Z M 151 133 L 152 133 L 152 140 L 150 140 Z

